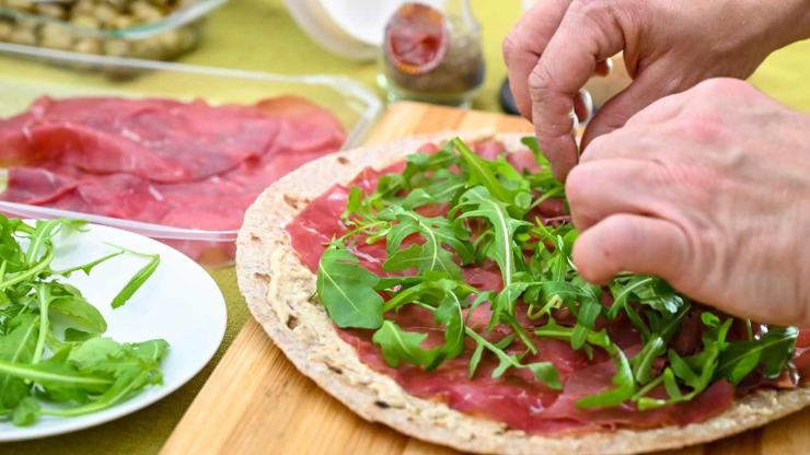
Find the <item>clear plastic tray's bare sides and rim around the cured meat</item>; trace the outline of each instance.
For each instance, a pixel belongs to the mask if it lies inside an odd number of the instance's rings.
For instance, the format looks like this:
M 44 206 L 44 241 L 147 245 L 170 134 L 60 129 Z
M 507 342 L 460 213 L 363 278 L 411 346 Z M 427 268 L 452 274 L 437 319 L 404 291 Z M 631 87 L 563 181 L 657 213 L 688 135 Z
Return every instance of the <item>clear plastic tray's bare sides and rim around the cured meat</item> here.
M 102 71 L 77 72 L 68 69 L 76 66 Z M 109 73 L 130 77 L 115 79 L 109 78 Z M 343 77 L 271 74 L 0 43 L 0 117 L 25 110 L 42 95 L 152 96 L 178 101 L 205 98 L 210 104 L 253 104 L 277 95 L 298 95 L 329 109 L 338 118 L 347 133 L 343 148 L 357 145 L 382 108 L 375 95 Z M 186 253 L 195 252 L 192 256 L 207 266 L 224 265 L 232 260 L 238 232 L 173 228 L 8 201 L 0 201 L 0 211 L 24 218 L 79 218 L 126 229 L 164 241 Z

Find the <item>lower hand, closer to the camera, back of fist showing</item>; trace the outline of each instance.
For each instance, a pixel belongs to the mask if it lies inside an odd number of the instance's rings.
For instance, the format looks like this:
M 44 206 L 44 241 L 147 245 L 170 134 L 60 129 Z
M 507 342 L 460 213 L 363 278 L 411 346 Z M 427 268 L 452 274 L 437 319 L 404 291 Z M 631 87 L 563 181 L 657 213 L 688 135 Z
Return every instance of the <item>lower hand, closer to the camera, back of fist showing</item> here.
M 709 80 L 594 139 L 566 194 L 586 279 L 657 275 L 726 313 L 810 326 L 810 116 Z

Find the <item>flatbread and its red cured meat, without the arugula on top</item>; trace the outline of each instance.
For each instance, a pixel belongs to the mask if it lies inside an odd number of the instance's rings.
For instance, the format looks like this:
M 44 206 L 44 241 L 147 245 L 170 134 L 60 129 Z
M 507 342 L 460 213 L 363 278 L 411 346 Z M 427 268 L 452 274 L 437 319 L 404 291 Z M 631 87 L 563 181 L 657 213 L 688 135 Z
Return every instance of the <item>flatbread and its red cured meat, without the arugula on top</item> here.
M 342 152 L 305 164 L 262 194 L 247 211 L 240 232 L 239 281 L 252 313 L 301 372 L 355 412 L 415 438 L 470 452 L 628 453 L 715 440 L 764 424 L 810 402 L 808 388 L 776 388 L 776 385 L 794 385 L 785 382 L 786 375 L 764 378 L 753 372 L 745 381 L 756 384 L 742 381 L 737 386 L 740 392 L 753 390 L 741 397 L 734 397 L 736 387 L 724 376 L 711 381 L 692 399 L 656 409 L 640 410 L 639 406 L 650 407 L 653 400 L 667 399 L 668 393 L 662 386 L 647 390 L 649 401 L 645 405 L 627 400 L 620 406 L 583 408 L 578 405 L 583 397 L 611 388 L 616 376 L 618 363 L 615 358 L 597 345 L 588 353 L 581 348 L 572 349 L 569 340 L 532 335 L 529 338 L 535 345 L 536 353 L 524 353 L 525 345 L 512 343 L 505 348 L 506 353 L 516 355 L 519 364 L 553 364 L 562 385 L 562 389 L 555 389 L 551 383 L 537 381 L 530 369 L 522 366 L 508 368 L 498 377 L 493 377 L 499 359 L 488 350 L 482 354 L 471 376 L 468 366 L 475 355 L 476 343 L 479 343 L 472 337 L 465 338 L 464 349 L 458 355 L 439 362 L 432 371 L 426 371 L 404 358 L 392 366 L 395 359 L 390 359 L 391 355 L 386 359 L 380 343 L 374 342 L 379 326 L 372 329 L 338 328 L 321 300 L 313 296 L 314 271 L 328 243 L 345 234 L 346 223 L 340 217 L 349 197 L 347 187 L 354 182 L 367 194 L 371 192 L 381 174 L 391 171 L 403 173 L 401 163 L 407 154 L 426 143 L 439 144 L 450 137 L 413 138 L 390 145 Z M 507 162 L 518 168 L 536 165 L 519 137 L 505 135 L 495 139 L 481 142 L 478 153 L 495 159 L 504 150 L 520 151 L 510 154 Z M 504 147 L 498 147 L 499 143 Z M 436 147 L 423 150 L 435 151 Z M 559 203 L 543 202 L 541 207 L 533 214 L 545 223 L 558 225 L 566 221 L 564 215 L 560 217 L 563 208 Z M 424 210 L 425 217 L 439 214 L 437 207 L 425 206 L 418 210 Z M 475 231 L 475 226 L 471 230 Z M 423 242 L 406 238 L 402 248 Z M 383 270 L 382 264 L 390 259 L 386 258 L 384 242 L 349 244 L 349 252 L 372 273 L 413 275 L 413 270 L 395 273 Z M 458 262 L 459 258 L 455 260 Z M 502 287 L 504 277 L 500 265 L 494 262 L 486 259 L 476 266 L 463 267 L 464 282 L 482 291 L 497 291 Z M 394 289 L 384 296 L 390 300 L 397 292 L 398 289 Z M 604 300 L 601 303 L 610 306 L 610 299 Z M 487 331 L 491 319 L 491 314 L 487 313 L 488 305 L 471 310 L 468 304 L 468 300 L 462 304 L 465 325 L 479 338 L 498 342 L 513 331 L 502 324 Z M 547 327 L 544 317 L 548 316 L 529 320 L 522 316 L 525 308 L 520 305 L 518 308 L 523 312 L 517 312 L 516 316 L 522 319 L 524 328 L 534 327 L 533 324 Z M 702 307 L 695 305 L 695 308 Z M 577 317 L 567 314 L 566 310 L 554 310 L 554 320 L 564 327 L 575 326 Z M 418 305 L 404 305 L 398 312 L 386 313 L 384 320 L 405 330 L 426 334 L 421 345 L 425 349 L 441 346 L 444 342 L 441 325 L 433 324 L 431 315 L 424 312 L 425 308 Z M 697 312 L 695 316 L 694 313 L 692 311 L 679 319 L 683 334 L 675 330 L 678 332 L 671 338 L 670 347 L 684 359 L 702 348 L 699 340 L 690 340 L 695 337 L 690 334 L 695 324 L 698 323 L 698 327 L 713 324 L 708 320 L 710 317 L 699 320 L 702 314 Z M 725 320 L 725 316 L 720 315 L 720 318 Z M 346 322 L 342 320 L 342 324 Z M 616 349 L 634 362 L 635 374 L 638 369 L 633 359 L 647 343 L 634 334 L 634 324 L 625 318 L 614 322 L 600 319 L 593 329 L 599 331 L 602 328 Z M 756 328 L 752 325 L 752 330 Z M 729 341 L 743 340 L 747 336 L 744 325 L 734 323 L 732 326 L 729 323 L 727 329 Z M 791 340 L 795 339 L 795 331 L 790 334 Z M 776 335 L 778 332 L 774 330 L 773 336 Z M 796 350 L 799 370 L 807 363 L 805 345 L 808 340 L 805 338 L 803 334 L 799 337 Z M 595 338 L 592 341 L 599 342 Z M 727 360 L 725 362 L 728 363 Z M 668 366 L 666 360 L 657 360 L 648 371 L 655 378 Z M 551 376 L 545 377 L 549 381 Z M 650 378 L 647 381 L 649 384 Z M 762 387 L 763 384 L 768 387 Z M 682 392 L 686 394 L 688 388 L 682 386 Z

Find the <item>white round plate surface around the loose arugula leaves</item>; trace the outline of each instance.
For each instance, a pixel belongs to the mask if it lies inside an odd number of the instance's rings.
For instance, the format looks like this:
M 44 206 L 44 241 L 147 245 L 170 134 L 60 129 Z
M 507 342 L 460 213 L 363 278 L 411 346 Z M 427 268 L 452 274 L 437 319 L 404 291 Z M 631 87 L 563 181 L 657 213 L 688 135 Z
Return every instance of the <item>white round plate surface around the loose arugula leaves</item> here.
M 107 320 L 105 336 L 116 341 L 163 338 L 170 350 L 163 360 L 163 384 L 142 390 L 117 406 L 86 416 L 42 417 L 32 427 L 0 422 L 0 441 L 50 436 L 108 422 L 135 412 L 176 390 L 213 357 L 225 331 L 225 303 L 217 284 L 199 265 L 151 238 L 114 228 L 90 225 L 90 232 L 55 238 L 54 269 L 89 262 L 115 250 L 112 243 L 141 253 L 160 254 L 154 273 L 126 305 L 109 302 L 147 259 L 123 255 L 95 268 L 90 277 L 73 273 L 78 287 Z

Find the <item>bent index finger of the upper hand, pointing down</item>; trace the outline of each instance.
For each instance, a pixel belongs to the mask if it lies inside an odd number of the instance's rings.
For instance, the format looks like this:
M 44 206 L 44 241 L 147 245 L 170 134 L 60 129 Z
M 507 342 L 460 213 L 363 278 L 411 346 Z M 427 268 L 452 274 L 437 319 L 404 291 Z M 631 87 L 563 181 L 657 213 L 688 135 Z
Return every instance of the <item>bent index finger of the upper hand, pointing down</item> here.
M 610 1 L 571 3 L 529 77 L 537 143 L 560 180 L 577 164 L 574 96 L 598 61 L 624 48 L 622 22 Z

